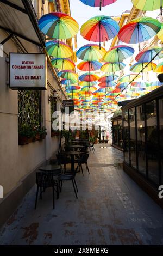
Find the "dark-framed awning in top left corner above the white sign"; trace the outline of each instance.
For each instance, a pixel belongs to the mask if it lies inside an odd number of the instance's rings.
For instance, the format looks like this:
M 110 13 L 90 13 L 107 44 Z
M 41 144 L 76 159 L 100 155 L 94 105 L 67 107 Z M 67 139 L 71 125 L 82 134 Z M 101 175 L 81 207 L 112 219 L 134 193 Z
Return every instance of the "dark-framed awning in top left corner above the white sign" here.
M 31 1 L 0 0 L 0 29 L 32 44 L 45 46 Z

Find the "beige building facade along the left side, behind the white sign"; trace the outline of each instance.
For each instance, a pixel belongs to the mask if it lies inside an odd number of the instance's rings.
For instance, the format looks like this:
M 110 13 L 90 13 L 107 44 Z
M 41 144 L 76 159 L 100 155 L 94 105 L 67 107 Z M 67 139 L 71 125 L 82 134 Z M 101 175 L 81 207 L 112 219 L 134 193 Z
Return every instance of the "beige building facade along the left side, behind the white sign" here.
M 4 198 L 0 199 L 0 224 L 34 185 L 37 167 L 59 148 L 60 138 L 57 133 L 52 133 L 52 113 L 59 110 L 62 100 L 67 98 L 57 70 L 45 51 L 46 38 L 37 26 L 37 20 L 51 11 L 70 14 L 69 1 L 0 3 L 0 185 L 4 191 Z M 72 47 L 72 40 L 68 44 Z M 10 52 L 46 54 L 46 90 L 9 88 Z M 58 92 L 57 101 L 53 99 L 54 89 Z M 45 127 L 45 139 L 34 139 L 22 145 L 19 137 L 26 125 Z

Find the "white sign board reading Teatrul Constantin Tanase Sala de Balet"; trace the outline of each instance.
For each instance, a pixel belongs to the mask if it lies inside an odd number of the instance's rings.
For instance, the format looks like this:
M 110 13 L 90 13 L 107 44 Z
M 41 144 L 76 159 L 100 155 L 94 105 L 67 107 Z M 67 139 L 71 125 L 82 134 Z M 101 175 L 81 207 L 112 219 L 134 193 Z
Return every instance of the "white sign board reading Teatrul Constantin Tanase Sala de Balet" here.
M 10 53 L 11 89 L 46 89 L 45 54 Z

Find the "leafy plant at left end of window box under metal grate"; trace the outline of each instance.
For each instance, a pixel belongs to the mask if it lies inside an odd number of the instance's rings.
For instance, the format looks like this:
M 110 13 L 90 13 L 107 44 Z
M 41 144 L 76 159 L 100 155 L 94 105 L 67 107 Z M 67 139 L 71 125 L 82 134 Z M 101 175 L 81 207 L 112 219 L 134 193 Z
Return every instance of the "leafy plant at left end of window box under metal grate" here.
M 18 144 L 24 145 L 33 141 L 35 132 L 32 127 L 28 124 L 22 124 L 18 131 Z

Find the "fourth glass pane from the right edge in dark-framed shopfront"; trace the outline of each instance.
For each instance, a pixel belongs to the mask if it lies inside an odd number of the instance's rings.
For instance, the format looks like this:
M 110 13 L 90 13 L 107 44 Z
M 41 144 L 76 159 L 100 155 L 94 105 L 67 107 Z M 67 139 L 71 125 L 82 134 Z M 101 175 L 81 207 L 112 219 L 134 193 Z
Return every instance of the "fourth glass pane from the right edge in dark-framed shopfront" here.
M 129 123 L 130 123 L 130 161 L 131 161 L 131 166 L 136 169 L 135 108 L 129 109 Z

